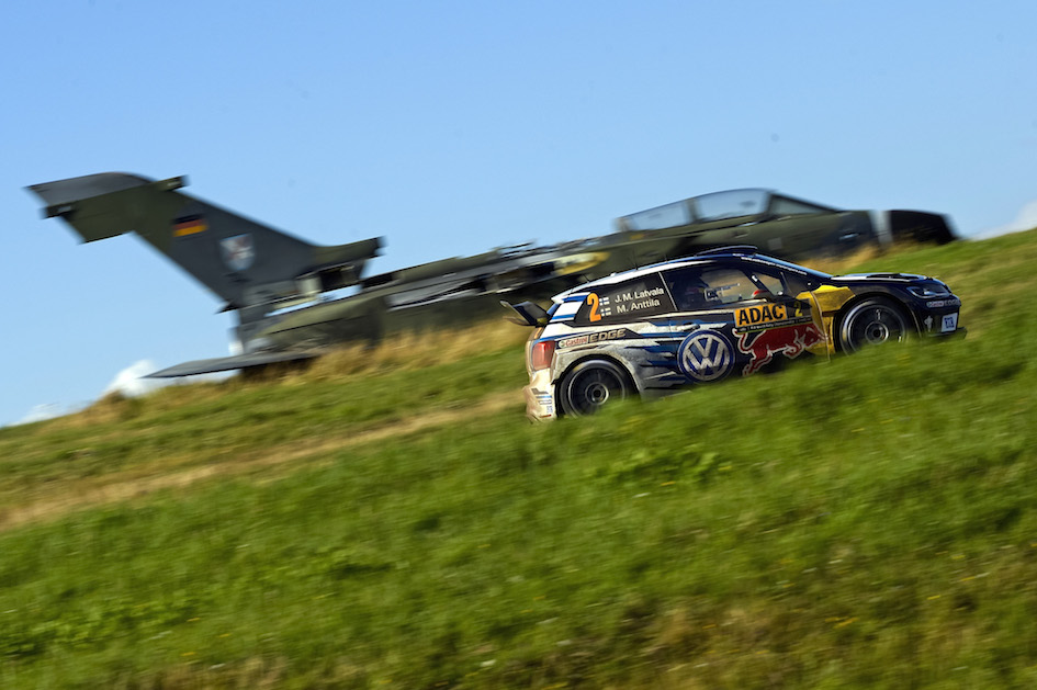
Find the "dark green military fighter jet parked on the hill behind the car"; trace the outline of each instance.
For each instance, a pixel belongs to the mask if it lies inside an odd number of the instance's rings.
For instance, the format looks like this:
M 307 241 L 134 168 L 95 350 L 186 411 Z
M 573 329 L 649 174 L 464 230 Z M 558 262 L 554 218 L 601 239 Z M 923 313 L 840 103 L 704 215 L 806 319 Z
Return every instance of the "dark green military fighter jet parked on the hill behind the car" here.
M 236 354 L 154 377 L 309 360 L 338 342 L 471 321 L 499 313 L 501 299 L 545 301 L 588 280 L 719 246 L 752 244 L 801 259 L 900 238 L 954 239 L 937 214 L 838 211 L 767 190 L 734 190 L 622 216 L 600 237 L 498 248 L 364 278 L 381 238 L 318 247 L 180 191 L 185 185 L 184 177 L 105 172 L 27 188 L 46 204 L 45 217 L 60 218 L 83 241 L 136 233 L 237 315 Z M 353 294 L 330 294 L 343 289 Z

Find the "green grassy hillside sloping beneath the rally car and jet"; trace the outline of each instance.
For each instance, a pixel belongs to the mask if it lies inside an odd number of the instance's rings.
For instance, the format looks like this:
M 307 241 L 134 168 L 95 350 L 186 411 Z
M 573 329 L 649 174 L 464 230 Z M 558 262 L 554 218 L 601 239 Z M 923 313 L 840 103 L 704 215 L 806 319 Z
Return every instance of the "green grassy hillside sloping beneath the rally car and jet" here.
M 522 417 L 523 329 L 0 429 L 0 687 L 1037 686 L 1037 231 L 967 339 Z

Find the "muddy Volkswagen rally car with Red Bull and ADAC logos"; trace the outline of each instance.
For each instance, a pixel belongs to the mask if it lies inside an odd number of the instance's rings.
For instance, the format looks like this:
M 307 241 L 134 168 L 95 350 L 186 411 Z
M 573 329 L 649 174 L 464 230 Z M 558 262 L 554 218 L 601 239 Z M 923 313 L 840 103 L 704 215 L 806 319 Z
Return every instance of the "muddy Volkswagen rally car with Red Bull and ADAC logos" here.
M 961 301 L 922 275 L 833 276 L 725 247 L 574 287 L 544 310 L 509 306 L 527 343 L 527 415 L 587 415 L 788 360 L 827 358 L 910 335 L 961 335 Z

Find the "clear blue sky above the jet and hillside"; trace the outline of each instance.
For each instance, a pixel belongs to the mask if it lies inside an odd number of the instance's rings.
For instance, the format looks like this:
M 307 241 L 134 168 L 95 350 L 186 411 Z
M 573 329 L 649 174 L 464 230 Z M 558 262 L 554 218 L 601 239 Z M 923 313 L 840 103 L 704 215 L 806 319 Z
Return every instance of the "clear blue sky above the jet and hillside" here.
M 384 236 L 379 272 L 739 186 L 973 235 L 1037 200 L 1035 26 L 1032 0 L 8 0 L 0 425 L 225 354 L 233 326 L 29 184 L 187 174 L 317 244 Z

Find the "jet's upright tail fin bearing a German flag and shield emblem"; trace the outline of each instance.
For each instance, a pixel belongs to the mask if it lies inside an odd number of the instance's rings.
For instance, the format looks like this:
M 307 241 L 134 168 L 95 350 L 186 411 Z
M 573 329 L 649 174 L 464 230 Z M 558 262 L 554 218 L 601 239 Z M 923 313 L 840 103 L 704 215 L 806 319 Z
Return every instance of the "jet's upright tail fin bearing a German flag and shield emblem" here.
M 262 314 L 360 281 L 380 238 L 317 247 L 177 190 L 183 177 L 153 181 L 104 172 L 33 184 L 44 215 L 86 242 L 136 233 L 227 303 Z

